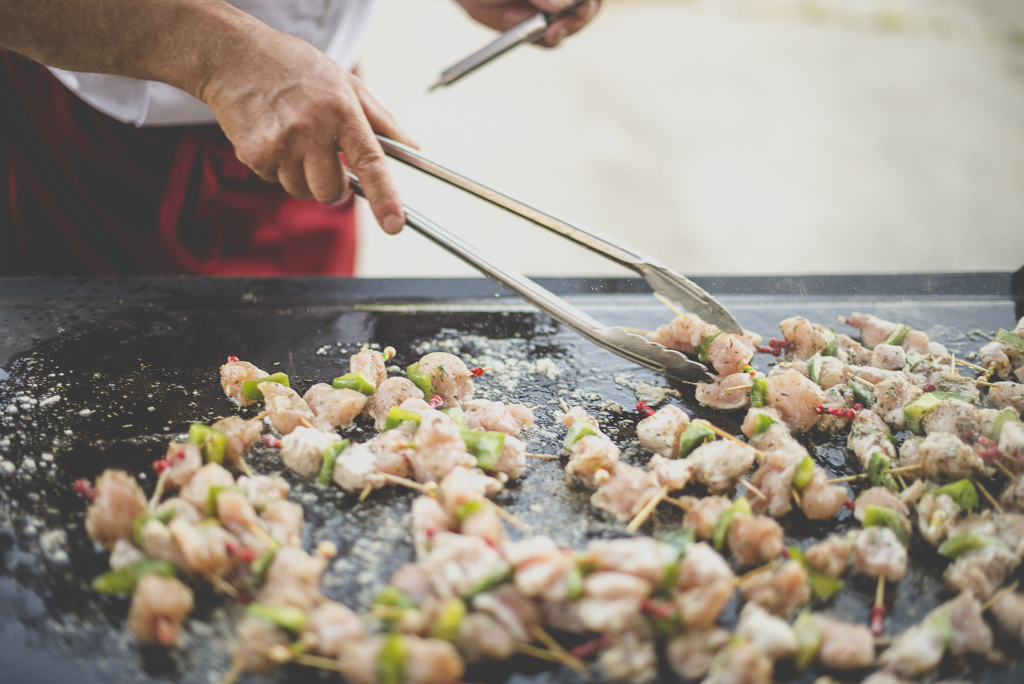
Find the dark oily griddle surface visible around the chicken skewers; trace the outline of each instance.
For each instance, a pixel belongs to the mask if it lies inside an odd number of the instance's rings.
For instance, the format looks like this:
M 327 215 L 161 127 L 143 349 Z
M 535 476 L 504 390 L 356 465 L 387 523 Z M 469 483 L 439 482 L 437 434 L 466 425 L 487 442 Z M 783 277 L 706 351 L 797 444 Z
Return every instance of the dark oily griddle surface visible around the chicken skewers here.
M 703 284 L 723 293 L 744 327 L 766 337 L 777 335 L 778 320 L 790 315 L 827 323 L 864 310 L 928 331 L 961 355 L 1021 315 L 1009 299 L 1009 282 L 1007 274 L 976 274 L 707 279 Z M 555 285 L 609 324 L 653 328 L 671 317 L 653 298 L 639 294 L 642 287 L 635 281 Z M 609 434 L 635 445 L 639 416 L 632 411 L 636 394 L 627 385 L 665 386 L 664 380 L 553 326 L 518 300 L 496 298 L 498 293 L 478 281 L 0 281 L 0 681 L 206 683 L 217 681 L 226 669 L 225 635 L 239 612 L 227 600 L 201 592 L 200 608 L 187 622 L 186 647 L 165 652 L 134 644 L 124 625 L 126 600 L 88 589 L 105 569 L 105 553 L 97 553 L 85 537 L 85 503 L 72 482 L 109 466 L 146 472 L 190 421 L 255 415 L 254 409 L 240 411 L 220 392 L 217 368 L 228 354 L 285 371 L 304 391 L 347 370 L 348 354 L 358 342 L 393 345 L 401 366 L 444 349 L 501 371 L 477 383 L 479 395 L 544 405 L 529 451 L 556 453 L 562 431 L 552 424 L 551 411 L 558 398 L 597 412 Z M 551 358 L 561 374 L 530 373 L 542 358 Z M 759 356 L 757 366 L 765 370 L 770 359 Z M 741 413 L 702 410 L 692 388 L 671 386 L 681 394 L 672 401 L 738 433 Z M 625 410 L 615 413 L 613 404 Z M 369 435 L 358 429 L 356 436 Z M 819 463 L 837 475 L 853 472 L 843 441 L 845 436 L 812 444 Z M 272 453 L 257 451 L 255 470 L 281 469 Z M 631 460 L 642 465 L 646 456 L 638 450 Z M 582 547 L 591 539 L 622 536 L 622 525 L 591 510 L 590 491 L 564 484 L 562 465 L 531 462 L 500 503 L 535 533 L 550 535 L 561 545 Z M 329 539 L 341 550 L 325 578 L 325 593 L 365 609 L 390 570 L 412 557 L 404 518 L 413 495 L 388 489 L 357 505 L 354 496 L 337 487 L 286 476 L 292 498 L 305 509 L 304 545 Z M 152 489 L 152 478 L 144 483 Z M 845 529 L 851 519 L 844 509 L 834 520 L 813 524 L 792 514 L 783 525 L 794 539 L 808 540 Z M 656 535 L 677 527 L 679 520 L 678 510 L 664 506 L 643 531 Z M 940 578 L 945 561 L 927 545 L 914 548 L 911 558 L 912 569 L 889 592 L 888 633 L 921 619 L 948 597 Z M 847 589 L 827 609 L 865 622 L 873 584 L 848 578 Z M 734 619 L 737 605 L 726 611 L 727 621 Z M 1012 644 L 997 640 L 997 645 L 1013 657 Z M 811 682 L 819 674 L 798 678 L 780 667 L 776 681 Z M 943 674 L 1019 682 L 1024 666 L 947 658 Z M 464 679 L 578 678 L 518 658 L 470 671 Z M 319 680 L 317 673 L 286 668 L 275 678 L 252 681 Z M 664 680 L 675 681 L 668 673 Z

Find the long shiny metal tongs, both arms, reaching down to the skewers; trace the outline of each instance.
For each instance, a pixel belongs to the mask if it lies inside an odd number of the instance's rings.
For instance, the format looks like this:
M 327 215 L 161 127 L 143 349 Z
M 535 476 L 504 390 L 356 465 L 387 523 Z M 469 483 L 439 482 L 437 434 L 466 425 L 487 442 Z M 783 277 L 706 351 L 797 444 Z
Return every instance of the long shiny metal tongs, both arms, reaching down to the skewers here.
M 650 285 L 655 293 L 678 302 L 684 308 L 697 313 L 705 320 L 715 324 L 726 332 L 737 335 L 742 334 L 742 329 L 736 323 L 736 319 L 724 306 L 715 301 L 714 297 L 689 279 L 680 275 L 656 260 L 625 245 L 603 238 L 581 225 L 570 223 L 565 219 L 558 218 L 524 202 L 515 200 L 493 187 L 467 178 L 440 164 L 428 160 L 417 151 L 399 142 L 380 135 L 377 138 L 389 157 L 404 162 L 414 168 L 449 182 L 456 187 L 460 187 L 503 209 L 518 214 L 537 225 L 568 238 L 572 242 L 583 245 L 620 265 L 635 270 L 643 275 L 644 280 L 647 281 L 647 284 Z M 359 179 L 350 170 L 346 169 L 346 171 L 352 190 L 364 197 Z M 630 333 L 623 328 L 604 326 L 524 275 L 492 261 L 471 245 L 452 234 L 419 212 L 409 207 L 403 207 L 403 209 L 406 211 L 406 223 L 410 227 L 443 247 L 506 290 L 515 293 L 591 342 L 635 364 L 673 378 L 714 381 L 714 376 L 708 372 L 708 369 L 703 365 L 692 361 L 678 351 L 667 349 L 660 344 Z

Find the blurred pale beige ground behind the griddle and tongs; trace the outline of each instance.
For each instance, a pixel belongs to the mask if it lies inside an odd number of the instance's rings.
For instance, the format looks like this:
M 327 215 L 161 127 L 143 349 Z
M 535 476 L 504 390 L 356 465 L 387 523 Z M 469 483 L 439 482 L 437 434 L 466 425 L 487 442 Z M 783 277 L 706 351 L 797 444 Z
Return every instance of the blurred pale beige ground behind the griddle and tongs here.
M 1021 0 L 605 0 L 559 48 L 429 94 L 495 34 L 449 0 L 380 4 L 362 76 L 428 156 L 683 273 L 1024 264 Z M 628 272 L 392 166 L 521 272 Z M 475 273 L 360 211 L 357 274 Z

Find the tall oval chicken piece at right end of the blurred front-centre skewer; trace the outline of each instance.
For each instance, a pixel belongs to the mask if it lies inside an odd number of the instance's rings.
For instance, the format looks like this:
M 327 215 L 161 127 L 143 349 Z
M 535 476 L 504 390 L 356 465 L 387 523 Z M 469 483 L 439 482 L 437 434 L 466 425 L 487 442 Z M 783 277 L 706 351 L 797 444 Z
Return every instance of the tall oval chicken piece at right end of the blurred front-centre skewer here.
M 694 544 L 679 561 L 673 604 L 683 625 L 710 627 L 732 599 L 736 575 L 705 542 Z

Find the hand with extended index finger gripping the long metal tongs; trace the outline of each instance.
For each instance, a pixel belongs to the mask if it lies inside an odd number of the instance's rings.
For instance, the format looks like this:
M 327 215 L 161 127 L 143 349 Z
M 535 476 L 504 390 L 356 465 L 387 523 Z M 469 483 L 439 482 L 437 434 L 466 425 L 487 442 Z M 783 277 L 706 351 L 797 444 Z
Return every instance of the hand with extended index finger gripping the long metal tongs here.
M 200 90 L 234 154 L 293 197 L 338 205 L 349 195 L 343 152 L 377 222 L 400 231 L 401 200 L 374 132 L 416 142 L 356 76 L 312 45 L 272 29 L 258 33 Z

